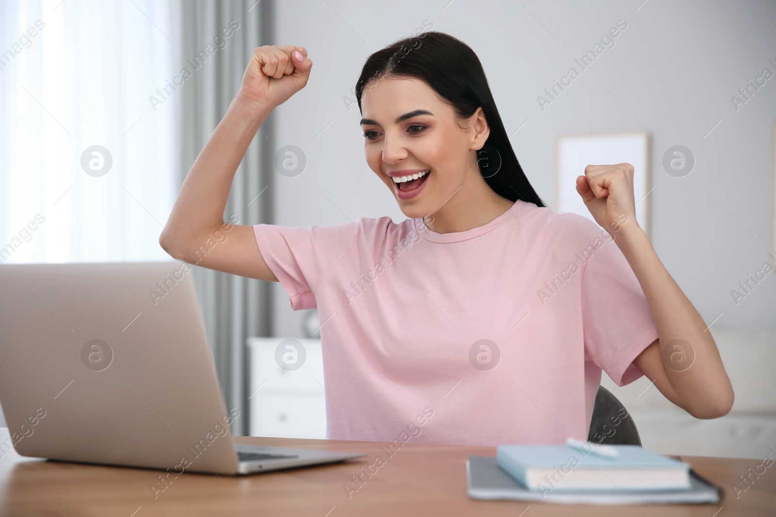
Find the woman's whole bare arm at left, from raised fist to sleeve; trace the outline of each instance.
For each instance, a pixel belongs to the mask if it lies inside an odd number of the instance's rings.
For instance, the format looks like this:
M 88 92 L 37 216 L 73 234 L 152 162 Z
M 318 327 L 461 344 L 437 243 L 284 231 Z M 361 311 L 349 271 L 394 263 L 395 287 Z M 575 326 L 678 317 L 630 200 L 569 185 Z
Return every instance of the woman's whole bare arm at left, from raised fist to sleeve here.
M 223 210 L 234 172 L 258 127 L 275 106 L 304 88 L 312 66 L 304 47 L 265 45 L 254 50 L 240 90 L 192 164 L 159 236 L 159 244 L 171 257 L 278 281 L 258 250 L 253 227 L 224 222 Z

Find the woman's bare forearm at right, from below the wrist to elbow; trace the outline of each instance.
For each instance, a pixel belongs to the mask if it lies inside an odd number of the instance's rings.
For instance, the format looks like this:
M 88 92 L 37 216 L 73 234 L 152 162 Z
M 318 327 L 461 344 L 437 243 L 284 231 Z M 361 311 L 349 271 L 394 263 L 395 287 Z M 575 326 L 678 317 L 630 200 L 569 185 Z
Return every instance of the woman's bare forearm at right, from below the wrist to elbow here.
M 693 415 L 728 412 L 733 405 L 733 386 L 701 315 L 663 266 L 639 226 L 622 226 L 615 233 L 615 243 L 636 274 L 650 305 L 663 367 L 677 398 L 674 402 Z M 673 359 L 682 361 L 677 363 Z

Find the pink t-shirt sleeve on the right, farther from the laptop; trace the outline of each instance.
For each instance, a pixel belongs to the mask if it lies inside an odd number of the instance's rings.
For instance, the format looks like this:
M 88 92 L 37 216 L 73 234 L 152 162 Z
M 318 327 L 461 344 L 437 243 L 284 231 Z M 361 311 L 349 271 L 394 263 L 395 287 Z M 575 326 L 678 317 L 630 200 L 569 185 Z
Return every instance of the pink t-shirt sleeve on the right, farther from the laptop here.
M 643 376 L 632 364 L 655 339 L 656 325 L 636 274 L 605 229 L 596 226 L 582 269 L 582 325 L 586 360 L 618 386 Z

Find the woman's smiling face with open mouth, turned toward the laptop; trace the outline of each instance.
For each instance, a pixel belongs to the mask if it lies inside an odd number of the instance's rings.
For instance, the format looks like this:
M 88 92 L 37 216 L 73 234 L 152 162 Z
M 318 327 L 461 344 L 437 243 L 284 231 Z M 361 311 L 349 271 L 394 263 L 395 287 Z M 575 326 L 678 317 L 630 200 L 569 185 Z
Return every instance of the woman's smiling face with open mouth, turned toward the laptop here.
M 476 150 L 488 132 L 483 138 L 462 129 L 452 106 L 442 102 L 426 82 L 415 78 L 372 81 L 362 91 L 361 108 L 366 162 L 407 217 L 437 212 L 462 187 L 467 174 L 477 171 Z M 465 128 L 466 122 L 471 120 L 464 122 Z M 393 181 L 394 176 L 412 174 L 419 174 L 417 180 Z

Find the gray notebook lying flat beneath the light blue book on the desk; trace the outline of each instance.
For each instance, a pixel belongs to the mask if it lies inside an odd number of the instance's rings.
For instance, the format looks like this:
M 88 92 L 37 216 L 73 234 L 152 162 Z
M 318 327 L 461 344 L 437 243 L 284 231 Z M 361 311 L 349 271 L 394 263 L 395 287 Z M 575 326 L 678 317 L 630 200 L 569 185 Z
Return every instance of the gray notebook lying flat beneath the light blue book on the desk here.
M 469 456 L 466 461 L 466 481 L 473 499 L 511 499 L 513 501 L 543 501 L 569 505 L 631 505 L 643 503 L 683 504 L 719 503 L 722 490 L 695 471 L 690 470 L 691 488 L 686 490 L 619 491 L 619 492 L 556 492 L 542 494 L 518 484 L 501 470 L 496 457 Z

